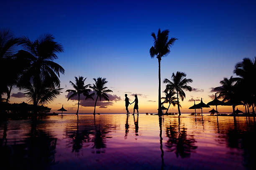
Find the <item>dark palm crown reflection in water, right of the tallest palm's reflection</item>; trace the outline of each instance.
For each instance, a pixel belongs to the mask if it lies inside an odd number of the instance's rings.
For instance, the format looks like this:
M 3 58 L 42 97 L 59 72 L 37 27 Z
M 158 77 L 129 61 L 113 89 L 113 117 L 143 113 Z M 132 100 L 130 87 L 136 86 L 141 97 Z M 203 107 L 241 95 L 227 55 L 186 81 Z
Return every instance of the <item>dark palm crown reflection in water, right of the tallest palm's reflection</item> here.
M 195 139 L 193 135 L 187 135 L 187 129 L 185 127 L 180 128 L 180 118 L 178 118 L 178 132 L 171 126 L 166 128 L 166 135 L 169 140 L 166 142 L 166 147 L 169 148 L 169 152 L 174 152 L 177 157 L 185 158 L 190 157 L 191 150 L 195 150 Z

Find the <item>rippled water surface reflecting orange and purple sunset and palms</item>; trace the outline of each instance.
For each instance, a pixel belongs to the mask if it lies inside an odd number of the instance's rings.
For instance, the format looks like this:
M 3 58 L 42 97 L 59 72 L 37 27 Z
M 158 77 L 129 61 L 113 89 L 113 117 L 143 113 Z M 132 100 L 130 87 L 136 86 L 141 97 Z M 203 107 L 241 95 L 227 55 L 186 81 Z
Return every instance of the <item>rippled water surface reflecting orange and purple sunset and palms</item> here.
M 0 169 L 255 169 L 255 119 L 74 114 L 0 121 Z

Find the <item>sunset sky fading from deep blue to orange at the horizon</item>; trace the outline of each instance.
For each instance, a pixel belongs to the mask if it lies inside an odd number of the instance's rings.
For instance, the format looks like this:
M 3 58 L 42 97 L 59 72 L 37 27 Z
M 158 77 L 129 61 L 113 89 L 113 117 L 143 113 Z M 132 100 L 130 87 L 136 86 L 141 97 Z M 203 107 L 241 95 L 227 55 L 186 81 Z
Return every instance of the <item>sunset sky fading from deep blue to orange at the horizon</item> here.
M 12 0 L 1 2 L 0 28 L 31 40 L 51 33 L 63 45 L 64 52 L 54 61 L 65 69 L 60 76 L 64 89 L 48 107 L 56 112 L 64 104 L 70 113 L 76 112 L 77 100 L 67 101 L 65 91 L 72 89 L 74 76 L 87 77 L 87 84 L 93 78 L 107 79 L 113 93 L 109 102 L 97 104 L 96 112 L 125 112 L 124 94 L 130 101 L 138 95 L 139 112 L 157 112 L 158 61 L 149 55 L 151 33 L 168 29 L 169 37 L 178 40 L 161 60 L 161 81 L 177 71 L 193 79 L 189 85 L 194 90 L 186 91 L 181 102 L 181 112 L 192 112 L 188 108 L 193 99 L 211 101 L 211 88 L 220 86 L 223 77 L 236 76 L 234 66 L 243 58 L 256 56 L 255 9 L 256 1 Z M 161 91 L 164 87 L 162 83 Z M 22 92 L 14 89 L 10 102 L 26 101 Z M 79 112 L 93 112 L 92 103 L 82 101 Z M 133 105 L 129 108 L 132 112 Z M 232 107 L 220 106 L 218 111 L 232 112 Z

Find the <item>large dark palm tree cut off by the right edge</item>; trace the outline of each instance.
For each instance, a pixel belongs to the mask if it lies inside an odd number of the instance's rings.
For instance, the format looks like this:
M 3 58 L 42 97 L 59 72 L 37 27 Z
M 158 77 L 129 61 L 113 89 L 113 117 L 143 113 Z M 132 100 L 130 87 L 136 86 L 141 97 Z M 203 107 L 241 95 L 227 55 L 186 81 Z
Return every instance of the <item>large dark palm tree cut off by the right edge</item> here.
M 253 60 L 250 58 L 243 58 L 242 62 L 236 64 L 234 73 L 239 77 L 236 78 L 238 80 L 238 86 L 243 89 L 243 101 L 246 104 L 252 106 L 253 113 L 254 112 L 254 105 L 256 103 L 256 89 L 255 85 L 252 83 L 253 80 L 256 79 L 256 57 Z

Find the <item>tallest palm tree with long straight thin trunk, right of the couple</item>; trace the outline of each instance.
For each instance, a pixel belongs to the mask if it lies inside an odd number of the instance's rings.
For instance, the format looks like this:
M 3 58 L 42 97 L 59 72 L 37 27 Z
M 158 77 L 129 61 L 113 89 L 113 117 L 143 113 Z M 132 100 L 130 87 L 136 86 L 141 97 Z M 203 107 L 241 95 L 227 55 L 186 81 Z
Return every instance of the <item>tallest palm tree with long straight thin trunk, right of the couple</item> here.
M 149 50 L 151 58 L 158 59 L 158 80 L 159 80 L 159 87 L 158 87 L 158 114 L 161 115 L 161 74 L 160 74 L 160 62 L 163 56 L 166 56 L 170 53 L 170 48 L 173 45 L 174 41 L 177 38 L 171 38 L 168 40 L 169 30 L 163 30 L 161 32 L 160 28 L 157 33 L 157 37 L 155 33 L 152 33 L 151 36 L 154 38 L 154 46 L 152 46 Z

